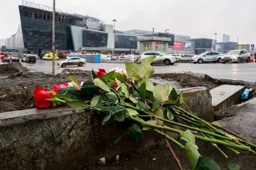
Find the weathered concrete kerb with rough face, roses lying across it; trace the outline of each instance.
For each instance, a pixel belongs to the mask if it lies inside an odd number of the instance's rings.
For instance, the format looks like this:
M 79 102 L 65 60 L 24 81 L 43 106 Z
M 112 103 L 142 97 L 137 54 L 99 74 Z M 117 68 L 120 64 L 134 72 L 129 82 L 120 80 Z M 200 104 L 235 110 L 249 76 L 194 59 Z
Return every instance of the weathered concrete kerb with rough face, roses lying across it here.
M 213 119 L 207 88 L 182 90 L 192 112 L 208 121 Z M 96 112 L 70 107 L 1 113 L 0 169 L 84 169 L 101 157 L 109 162 L 122 152 L 148 150 L 164 143 L 162 136 L 147 130 L 143 131 L 144 139 L 134 140 L 125 134 L 117 144 L 108 147 L 133 122 L 111 121 L 101 128 L 101 120 L 102 116 Z M 179 135 L 172 137 L 178 139 Z

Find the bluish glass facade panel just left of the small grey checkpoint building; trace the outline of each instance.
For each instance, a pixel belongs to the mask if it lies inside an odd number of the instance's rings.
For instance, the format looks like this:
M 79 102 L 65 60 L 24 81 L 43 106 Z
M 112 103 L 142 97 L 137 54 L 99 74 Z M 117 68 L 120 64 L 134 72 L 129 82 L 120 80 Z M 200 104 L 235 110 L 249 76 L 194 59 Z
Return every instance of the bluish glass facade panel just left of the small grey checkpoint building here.
M 137 36 L 115 34 L 114 41 L 115 48 L 137 48 Z

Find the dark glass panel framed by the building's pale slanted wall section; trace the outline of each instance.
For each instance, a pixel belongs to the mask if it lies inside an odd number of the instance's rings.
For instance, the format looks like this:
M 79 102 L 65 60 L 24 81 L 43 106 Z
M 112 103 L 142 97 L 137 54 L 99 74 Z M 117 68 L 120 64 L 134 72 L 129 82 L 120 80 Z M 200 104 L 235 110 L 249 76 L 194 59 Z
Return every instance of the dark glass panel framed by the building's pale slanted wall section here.
M 83 47 L 106 47 L 108 33 L 83 30 Z

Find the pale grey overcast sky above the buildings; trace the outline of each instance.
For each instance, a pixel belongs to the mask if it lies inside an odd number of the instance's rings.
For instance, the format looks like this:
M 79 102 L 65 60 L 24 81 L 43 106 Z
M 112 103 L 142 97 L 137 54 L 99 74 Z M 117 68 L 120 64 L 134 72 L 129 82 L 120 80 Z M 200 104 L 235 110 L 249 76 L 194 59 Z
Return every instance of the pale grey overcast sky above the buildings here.
M 17 31 L 20 21 L 18 5 L 22 0 L 4 0 L 1 4 L 0 38 Z M 52 0 L 31 0 L 52 6 Z M 256 43 L 256 0 L 56 0 L 63 12 L 97 17 L 107 24 L 116 19 L 116 29 L 143 29 L 213 38 L 222 41 Z

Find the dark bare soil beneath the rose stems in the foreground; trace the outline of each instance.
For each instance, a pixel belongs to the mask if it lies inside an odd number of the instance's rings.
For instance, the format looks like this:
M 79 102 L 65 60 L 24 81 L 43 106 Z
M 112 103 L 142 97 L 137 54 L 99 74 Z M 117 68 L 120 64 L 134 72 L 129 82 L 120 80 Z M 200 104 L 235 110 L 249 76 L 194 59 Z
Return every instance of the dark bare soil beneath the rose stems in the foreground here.
M 221 147 L 220 148 L 227 154 L 225 158 L 215 147 L 210 143 L 196 141 L 201 155 L 208 156 L 218 163 L 221 170 L 228 169 L 229 163 L 239 164 L 242 170 L 252 170 L 256 167 L 255 156 L 251 153 L 241 151 L 240 154 L 235 154 L 232 151 Z M 192 169 L 189 161 L 187 160 L 184 150 L 172 144 L 172 147 L 180 159 L 184 170 Z M 153 160 L 153 158 L 156 158 Z M 166 146 L 158 146 L 152 150 L 121 154 L 119 161 L 106 162 L 105 165 L 98 165 L 94 167 L 87 167 L 86 170 L 178 170 L 177 164 L 171 156 L 169 149 Z

